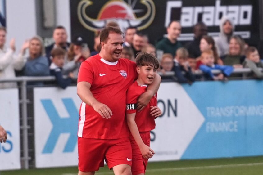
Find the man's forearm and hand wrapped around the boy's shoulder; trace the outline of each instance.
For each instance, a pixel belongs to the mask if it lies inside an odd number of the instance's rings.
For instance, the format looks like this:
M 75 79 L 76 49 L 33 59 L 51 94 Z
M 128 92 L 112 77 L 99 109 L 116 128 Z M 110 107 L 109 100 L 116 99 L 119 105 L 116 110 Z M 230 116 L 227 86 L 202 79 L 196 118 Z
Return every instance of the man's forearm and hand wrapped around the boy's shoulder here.
M 148 105 L 152 96 L 158 91 L 160 84 L 161 84 L 161 76 L 156 74 L 152 84 L 147 87 L 147 91 L 144 92 L 142 95 L 139 96 L 137 100 L 137 110 L 141 111 L 145 106 Z

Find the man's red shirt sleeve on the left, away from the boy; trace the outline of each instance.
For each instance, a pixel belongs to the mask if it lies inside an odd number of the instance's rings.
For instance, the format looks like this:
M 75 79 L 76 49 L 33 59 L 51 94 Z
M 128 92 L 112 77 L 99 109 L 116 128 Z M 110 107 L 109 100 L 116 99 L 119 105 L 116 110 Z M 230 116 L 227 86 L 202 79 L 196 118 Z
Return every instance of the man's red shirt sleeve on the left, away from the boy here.
M 81 81 L 86 81 L 92 84 L 93 79 L 94 79 L 94 70 L 92 68 L 92 65 L 88 61 L 82 62 L 79 68 L 78 83 Z

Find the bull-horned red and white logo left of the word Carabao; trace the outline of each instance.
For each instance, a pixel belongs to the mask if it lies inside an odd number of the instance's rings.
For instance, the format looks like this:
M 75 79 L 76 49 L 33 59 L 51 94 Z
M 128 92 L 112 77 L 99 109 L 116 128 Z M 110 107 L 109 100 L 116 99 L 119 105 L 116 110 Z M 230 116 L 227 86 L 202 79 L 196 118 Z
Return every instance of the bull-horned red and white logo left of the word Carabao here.
M 89 17 L 85 10 L 93 4 L 90 0 L 82 0 L 78 4 L 78 18 L 80 23 L 88 30 L 98 31 L 102 29 L 107 21 L 116 21 L 120 29 L 136 27 L 138 30 L 147 28 L 155 17 L 155 5 L 152 0 L 141 0 L 141 4 L 147 7 L 144 16 L 137 18 L 132 6 L 125 1 L 108 1 L 99 11 L 97 19 Z

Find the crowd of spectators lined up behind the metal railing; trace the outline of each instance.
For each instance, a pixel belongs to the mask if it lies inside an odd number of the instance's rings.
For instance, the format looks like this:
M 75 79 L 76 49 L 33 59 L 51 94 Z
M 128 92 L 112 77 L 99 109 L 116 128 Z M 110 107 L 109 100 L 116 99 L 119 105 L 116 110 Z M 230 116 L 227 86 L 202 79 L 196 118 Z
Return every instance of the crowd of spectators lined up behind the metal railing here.
M 118 27 L 116 22 L 107 25 Z M 203 22 L 193 27 L 193 41 L 182 44 L 178 41 L 182 27 L 180 22 L 173 20 L 167 27 L 166 37 L 161 38 L 155 45 L 149 43 L 148 36 L 139 32 L 135 27 L 128 27 L 124 32 L 124 44 L 121 57 L 135 61 L 139 52 L 147 52 L 156 56 L 160 61 L 159 73 L 163 79 L 172 79 L 179 83 L 192 84 L 202 70 L 205 80 L 227 80 L 234 68 L 250 68 L 251 76 L 263 79 L 263 68 L 256 47 L 248 47 L 243 38 L 234 35 L 234 22 L 228 16 L 220 21 L 218 37 L 208 36 L 208 28 Z M 66 88 L 77 79 L 80 64 L 89 56 L 100 52 L 99 32 L 95 33 L 94 45 L 90 52 L 88 45 L 80 35 L 67 42 L 67 31 L 63 26 L 57 26 L 53 31 L 54 43 L 44 47 L 43 40 L 34 36 L 26 40 L 15 54 L 15 40 L 9 47 L 6 43 L 6 30 L 0 28 L 0 79 L 16 76 L 48 76 L 56 77 L 56 84 Z M 155 47 L 156 46 L 156 47 Z M 27 51 L 28 50 L 28 51 Z M 212 70 L 220 70 L 213 74 Z M 165 76 L 174 72 L 173 76 Z M 66 78 L 66 77 L 67 78 Z M 43 85 L 34 82 L 33 85 Z M 16 83 L 0 83 L 0 88 L 16 87 Z

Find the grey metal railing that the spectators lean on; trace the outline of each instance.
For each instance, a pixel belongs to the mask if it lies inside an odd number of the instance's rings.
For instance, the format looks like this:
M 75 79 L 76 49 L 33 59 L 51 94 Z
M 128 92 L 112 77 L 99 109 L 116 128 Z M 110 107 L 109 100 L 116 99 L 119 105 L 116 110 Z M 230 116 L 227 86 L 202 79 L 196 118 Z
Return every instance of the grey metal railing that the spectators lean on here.
M 259 70 L 262 71 L 262 68 L 259 68 Z M 212 70 L 213 74 L 219 74 L 221 71 L 220 70 Z M 234 69 L 232 74 L 250 74 L 252 73 L 251 69 L 249 68 L 236 68 Z M 167 76 L 174 76 L 174 72 L 166 72 L 166 74 L 158 73 L 161 76 L 167 77 Z M 201 70 L 197 70 L 194 72 L 195 75 L 202 75 Z M 10 79 L 0 79 L 0 83 L 3 82 L 17 82 L 20 83 L 20 105 L 21 105 L 21 118 L 22 118 L 22 124 L 20 123 L 20 128 L 22 130 L 22 151 L 23 151 L 23 156 L 21 157 L 21 162 L 23 162 L 23 168 L 28 169 L 29 168 L 29 160 L 31 157 L 29 157 L 29 139 L 28 139 L 28 130 L 30 126 L 28 125 L 28 109 L 27 109 L 27 104 L 30 102 L 27 96 L 27 82 L 39 82 L 39 81 L 54 81 L 55 77 L 54 76 L 45 76 L 45 77 L 16 77 L 16 78 L 10 78 Z

